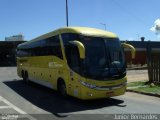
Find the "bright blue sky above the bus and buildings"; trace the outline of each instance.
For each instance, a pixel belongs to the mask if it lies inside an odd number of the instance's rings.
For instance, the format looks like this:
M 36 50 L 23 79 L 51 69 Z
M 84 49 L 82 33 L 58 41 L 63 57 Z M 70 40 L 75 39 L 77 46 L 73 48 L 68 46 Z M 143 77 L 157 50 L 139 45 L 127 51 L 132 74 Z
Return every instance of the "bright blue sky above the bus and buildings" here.
M 160 0 L 68 0 L 69 26 L 116 33 L 121 40 L 160 40 Z M 0 40 L 31 40 L 66 27 L 65 0 L 0 0 Z M 105 24 L 105 25 L 104 25 Z

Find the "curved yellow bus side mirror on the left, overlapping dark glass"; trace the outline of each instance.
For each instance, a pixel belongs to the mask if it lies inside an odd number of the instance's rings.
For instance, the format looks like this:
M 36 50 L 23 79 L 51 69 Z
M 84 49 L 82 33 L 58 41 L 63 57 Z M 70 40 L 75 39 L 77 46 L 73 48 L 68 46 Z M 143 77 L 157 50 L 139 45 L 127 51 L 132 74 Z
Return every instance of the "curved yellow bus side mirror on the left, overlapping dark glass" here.
M 77 40 L 69 41 L 69 43 L 76 45 L 78 47 L 80 58 L 85 59 L 85 47 L 84 47 L 84 45 Z

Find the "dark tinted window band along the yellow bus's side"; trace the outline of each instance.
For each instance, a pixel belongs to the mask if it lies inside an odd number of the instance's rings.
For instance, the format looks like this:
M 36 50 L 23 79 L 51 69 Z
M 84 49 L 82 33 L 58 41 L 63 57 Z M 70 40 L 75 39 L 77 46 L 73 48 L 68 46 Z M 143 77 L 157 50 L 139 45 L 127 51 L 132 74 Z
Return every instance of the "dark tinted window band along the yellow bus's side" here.
M 63 59 L 59 36 L 53 36 L 44 40 L 39 40 L 31 43 L 29 46 L 23 46 L 23 49 L 18 49 L 17 56 L 48 56 L 55 55 Z

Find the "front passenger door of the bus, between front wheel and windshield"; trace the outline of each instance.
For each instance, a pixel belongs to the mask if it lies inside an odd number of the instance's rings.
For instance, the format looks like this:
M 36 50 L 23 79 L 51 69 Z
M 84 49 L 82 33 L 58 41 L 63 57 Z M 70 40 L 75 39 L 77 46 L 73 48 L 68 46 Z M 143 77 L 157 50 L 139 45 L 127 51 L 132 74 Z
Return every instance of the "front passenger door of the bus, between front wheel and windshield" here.
M 80 71 L 80 57 L 77 46 L 66 46 L 65 49 L 67 63 L 69 66 L 69 92 L 73 96 L 80 96 L 79 80 L 81 79 Z

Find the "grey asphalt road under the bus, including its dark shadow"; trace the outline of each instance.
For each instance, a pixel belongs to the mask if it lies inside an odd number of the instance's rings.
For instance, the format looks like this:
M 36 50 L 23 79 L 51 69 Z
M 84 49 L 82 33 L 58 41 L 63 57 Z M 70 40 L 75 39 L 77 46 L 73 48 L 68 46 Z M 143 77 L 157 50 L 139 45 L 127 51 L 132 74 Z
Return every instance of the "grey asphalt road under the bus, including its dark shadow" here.
M 118 114 L 159 113 L 160 98 L 127 92 L 123 96 L 102 100 L 64 99 L 46 87 L 34 83 L 26 85 L 16 75 L 14 67 L 0 68 L 0 120 L 5 117 L 26 120 L 112 120 Z

